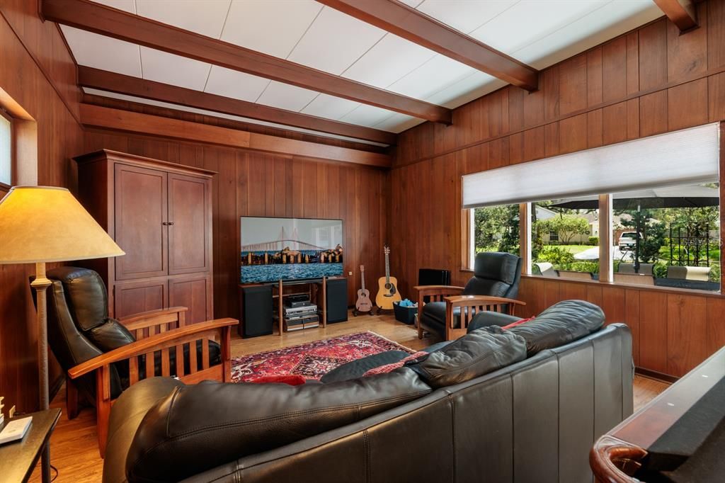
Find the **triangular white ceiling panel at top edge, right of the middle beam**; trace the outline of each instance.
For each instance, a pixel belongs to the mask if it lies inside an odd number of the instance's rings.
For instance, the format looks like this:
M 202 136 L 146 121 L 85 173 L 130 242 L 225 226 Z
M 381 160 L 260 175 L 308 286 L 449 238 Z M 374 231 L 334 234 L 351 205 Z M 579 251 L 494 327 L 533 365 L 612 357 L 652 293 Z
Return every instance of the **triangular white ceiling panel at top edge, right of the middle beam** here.
M 518 0 L 426 0 L 418 11 L 460 32 L 476 30 Z

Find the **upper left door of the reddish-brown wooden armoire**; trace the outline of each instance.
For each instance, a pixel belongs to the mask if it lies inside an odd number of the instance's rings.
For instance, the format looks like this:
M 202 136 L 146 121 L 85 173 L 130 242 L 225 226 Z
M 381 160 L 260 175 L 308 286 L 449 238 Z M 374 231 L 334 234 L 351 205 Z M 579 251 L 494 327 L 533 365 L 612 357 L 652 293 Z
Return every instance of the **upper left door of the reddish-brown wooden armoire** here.
M 115 165 L 116 280 L 167 274 L 167 174 Z

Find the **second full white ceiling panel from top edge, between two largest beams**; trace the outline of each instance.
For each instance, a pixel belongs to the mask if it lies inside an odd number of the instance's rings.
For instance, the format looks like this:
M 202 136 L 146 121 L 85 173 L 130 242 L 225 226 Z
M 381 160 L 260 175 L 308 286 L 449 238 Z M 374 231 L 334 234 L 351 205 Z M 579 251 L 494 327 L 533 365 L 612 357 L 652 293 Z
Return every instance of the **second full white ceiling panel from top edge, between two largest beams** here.
M 435 56 L 434 51 L 389 33 L 345 70 L 342 76 L 370 86 L 387 88 Z

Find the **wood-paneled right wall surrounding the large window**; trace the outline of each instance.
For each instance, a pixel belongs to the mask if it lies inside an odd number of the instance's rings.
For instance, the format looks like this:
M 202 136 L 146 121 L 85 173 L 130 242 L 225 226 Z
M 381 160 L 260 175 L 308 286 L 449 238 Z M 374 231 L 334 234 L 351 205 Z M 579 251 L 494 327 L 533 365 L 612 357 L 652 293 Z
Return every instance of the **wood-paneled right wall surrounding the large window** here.
M 460 176 L 725 120 L 725 2 L 697 9 L 690 33 L 662 18 L 544 70 L 537 92 L 502 88 L 457 108 L 450 126 L 402 133 L 391 205 L 405 223 L 391 222 L 390 239 L 403 294 L 414 295 L 418 268 L 449 269 L 455 284 L 471 276 Z M 568 298 L 600 303 L 631 326 L 638 365 L 673 376 L 725 344 L 721 297 L 526 278 L 521 298 L 531 314 Z

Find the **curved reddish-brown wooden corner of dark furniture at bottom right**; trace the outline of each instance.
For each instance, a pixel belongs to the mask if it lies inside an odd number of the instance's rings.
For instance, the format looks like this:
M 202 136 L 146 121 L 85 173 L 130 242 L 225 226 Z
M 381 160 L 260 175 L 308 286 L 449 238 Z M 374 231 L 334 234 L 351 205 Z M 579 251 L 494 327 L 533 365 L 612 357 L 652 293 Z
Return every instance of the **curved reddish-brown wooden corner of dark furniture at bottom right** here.
M 589 451 L 589 466 L 601 483 L 635 483 L 632 475 L 642 466 L 639 461 L 647 451 L 641 447 L 605 434 Z

